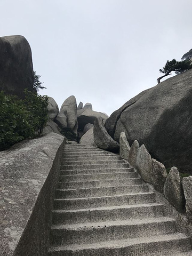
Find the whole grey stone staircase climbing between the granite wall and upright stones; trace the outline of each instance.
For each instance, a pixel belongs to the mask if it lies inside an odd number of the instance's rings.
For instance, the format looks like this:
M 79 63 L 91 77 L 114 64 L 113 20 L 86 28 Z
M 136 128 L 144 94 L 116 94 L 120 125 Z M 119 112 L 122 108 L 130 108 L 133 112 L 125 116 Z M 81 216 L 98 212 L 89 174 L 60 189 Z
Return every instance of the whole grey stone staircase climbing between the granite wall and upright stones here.
M 190 237 L 118 155 L 65 145 L 55 197 L 49 256 L 192 255 Z

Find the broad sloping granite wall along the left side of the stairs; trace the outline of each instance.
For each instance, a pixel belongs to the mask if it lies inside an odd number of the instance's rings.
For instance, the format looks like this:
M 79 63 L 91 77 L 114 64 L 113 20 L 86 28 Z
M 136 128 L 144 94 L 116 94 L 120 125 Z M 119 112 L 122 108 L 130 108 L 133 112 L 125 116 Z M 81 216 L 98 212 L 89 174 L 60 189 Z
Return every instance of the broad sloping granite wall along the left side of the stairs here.
M 50 133 L 0 152 L 1 256 L 46 255 L 62 143 Z

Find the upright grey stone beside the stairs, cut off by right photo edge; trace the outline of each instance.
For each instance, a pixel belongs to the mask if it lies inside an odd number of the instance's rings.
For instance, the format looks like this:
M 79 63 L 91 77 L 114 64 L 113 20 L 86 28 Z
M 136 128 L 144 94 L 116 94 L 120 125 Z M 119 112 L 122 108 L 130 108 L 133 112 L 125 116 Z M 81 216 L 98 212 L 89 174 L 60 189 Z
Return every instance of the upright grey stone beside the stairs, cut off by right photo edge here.
M 186 213 L 192 220 L 192 176 L 182 179 L 183 191 L 186 199 Z

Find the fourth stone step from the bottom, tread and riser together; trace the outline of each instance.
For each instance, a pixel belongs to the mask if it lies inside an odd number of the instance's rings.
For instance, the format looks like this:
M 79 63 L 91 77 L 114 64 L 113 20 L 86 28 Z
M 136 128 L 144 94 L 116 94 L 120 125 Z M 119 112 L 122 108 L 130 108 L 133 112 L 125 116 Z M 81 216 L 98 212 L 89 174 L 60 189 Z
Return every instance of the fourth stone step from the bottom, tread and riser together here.
M 120 206 L 126 204 L 155 203 L 155 194 L 152 192 L 140 194 L 114 195 L 87 198 L 58 198 L 54 199 L 54 209 L 72 210 L 98 208 L 103 206 Z

